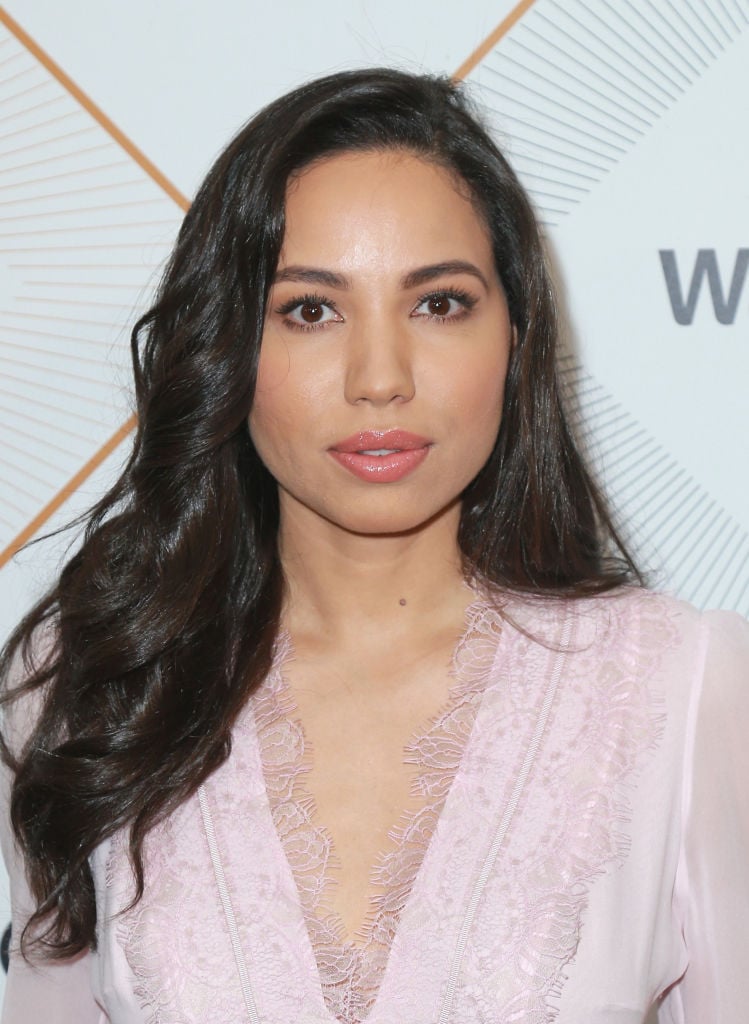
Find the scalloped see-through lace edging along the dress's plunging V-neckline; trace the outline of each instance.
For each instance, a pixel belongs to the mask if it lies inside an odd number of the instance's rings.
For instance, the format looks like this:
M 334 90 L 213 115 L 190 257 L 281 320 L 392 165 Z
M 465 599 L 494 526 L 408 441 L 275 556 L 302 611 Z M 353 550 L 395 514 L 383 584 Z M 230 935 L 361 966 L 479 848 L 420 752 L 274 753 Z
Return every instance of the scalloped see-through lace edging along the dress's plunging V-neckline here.
M 253 698 L 273 818 L 299 891 L 326 1006 L 343 1024 L 362 1024 L 379 991 L 401 913 L 473 727 L 501 625 L 499 611 L 486 601 L 469 606 L 453 654 L 455 683 L 448 702 L 405 749 L 404 762 L 415 769 L 411 794 L 423 805 L 402 815 L 389 833 L 393 848 L 381 853 L 372 868 L 376 891 L 357 936 L 361 944 L 344 938 L 330 901 L 339 861 L 330 834 L 316 821 L 306 787 L 311 750 L 284 679 L 284 666 L 293 656 L 287 634 L 279 638 L 273 669 Z

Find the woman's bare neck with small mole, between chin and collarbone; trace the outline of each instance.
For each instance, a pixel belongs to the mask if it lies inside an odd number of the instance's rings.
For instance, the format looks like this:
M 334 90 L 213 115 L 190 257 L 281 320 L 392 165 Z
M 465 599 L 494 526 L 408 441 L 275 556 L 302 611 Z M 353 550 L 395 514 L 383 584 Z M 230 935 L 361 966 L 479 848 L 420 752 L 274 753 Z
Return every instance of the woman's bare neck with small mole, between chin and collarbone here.
M 287 509 L 281 518 L 284 621 L 293 636 L 381 645 L 462 621 L 472 595 L 457 543 L 458 505 L 397 535 L 350 534 L 311 515 Z

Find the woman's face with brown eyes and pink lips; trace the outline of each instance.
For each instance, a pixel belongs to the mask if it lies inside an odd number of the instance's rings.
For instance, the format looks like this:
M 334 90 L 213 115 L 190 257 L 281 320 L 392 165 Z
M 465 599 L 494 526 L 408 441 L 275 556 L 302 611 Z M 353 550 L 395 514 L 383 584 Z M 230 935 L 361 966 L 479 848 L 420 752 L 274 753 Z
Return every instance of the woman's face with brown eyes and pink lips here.
M 488 229 L 446 170 L 400 152 L 306 168 L 287 194 L 249 420 L 282 528 L 457 525 L 511 344 Z

